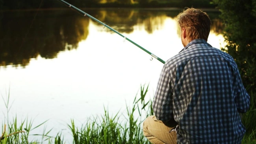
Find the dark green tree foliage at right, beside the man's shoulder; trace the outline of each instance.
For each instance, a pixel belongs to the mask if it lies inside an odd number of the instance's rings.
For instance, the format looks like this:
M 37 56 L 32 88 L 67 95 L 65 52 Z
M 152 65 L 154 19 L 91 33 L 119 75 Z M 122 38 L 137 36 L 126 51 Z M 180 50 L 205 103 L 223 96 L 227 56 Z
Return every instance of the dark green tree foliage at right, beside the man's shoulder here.
M 213 0 L 221 11 L 226 47 L 224 51 L 234 57 L 243 84 L 251 96 L 250 109 L 256 109 L 256 0 Z M 251 113 L 255 117 L 255 113 Z M 252 117 L 251 115 L 251 117 Z M 244 118 L 246 119 L 246 118 Z M 248 119 L 248 118 L 247 118 Z M 245 124 L 251 132 L 255 122 Z

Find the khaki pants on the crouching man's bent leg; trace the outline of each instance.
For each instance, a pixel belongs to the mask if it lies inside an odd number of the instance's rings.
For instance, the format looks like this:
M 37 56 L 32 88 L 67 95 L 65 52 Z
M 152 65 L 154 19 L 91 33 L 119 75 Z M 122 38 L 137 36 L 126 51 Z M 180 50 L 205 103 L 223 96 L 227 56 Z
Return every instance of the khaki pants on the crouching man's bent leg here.
M 152 144 L 177 144 L 176 124 L 163 124 L 156 116 L 148 116 L 143 123 L 143 134 Z

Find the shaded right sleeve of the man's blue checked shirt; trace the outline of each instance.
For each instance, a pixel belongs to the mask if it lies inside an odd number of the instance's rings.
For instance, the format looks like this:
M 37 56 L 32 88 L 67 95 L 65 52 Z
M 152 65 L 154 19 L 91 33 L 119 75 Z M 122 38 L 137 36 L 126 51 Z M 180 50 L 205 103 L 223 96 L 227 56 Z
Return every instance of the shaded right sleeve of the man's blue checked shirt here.
M 236 73 L 236 80 L 237 80 L 237 90 L 236 90 L 235 103 L 236 103 L 237 111 L 238 113 L 246 113 L 250 105 L 250 96 L 247 93 L 245 87 L 243 86 L 238 68 Z

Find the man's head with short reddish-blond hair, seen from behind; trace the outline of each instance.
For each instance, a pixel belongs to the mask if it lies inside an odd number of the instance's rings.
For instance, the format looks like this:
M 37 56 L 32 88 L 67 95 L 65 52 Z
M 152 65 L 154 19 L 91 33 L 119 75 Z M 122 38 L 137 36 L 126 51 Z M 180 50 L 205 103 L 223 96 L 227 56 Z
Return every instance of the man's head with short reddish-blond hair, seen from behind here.
M 208 40 L 211 20 L 200 9 L 188 8 L 177 16 L 181 31 L 182 44 L 186 46 L 194 39 Z

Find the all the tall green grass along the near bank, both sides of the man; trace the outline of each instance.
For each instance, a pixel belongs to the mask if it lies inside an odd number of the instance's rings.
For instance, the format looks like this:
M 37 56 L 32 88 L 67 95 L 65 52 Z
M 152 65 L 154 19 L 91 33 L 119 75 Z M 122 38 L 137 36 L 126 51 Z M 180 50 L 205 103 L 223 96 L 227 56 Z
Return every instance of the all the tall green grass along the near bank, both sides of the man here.
M 142 123 L 144 119 L 153 114 L 151 107 L 151 100 L 145 100 L 148 92 L 148 85 L 142 85 L 139 97 L 136 94 L 132 106 L 126 105 L 125 112 L 118 112 L 110 114 L 108 109 L 104 107 L 104 114 L 89 118 L 86 124 L 76 126 L 72 119 L 67 127 L 72 135 L 72 144 L 149 144 L 149 141 L 143 136 Z M 253 92 L 251 92 L 251 101 L 253 99 Z M 3 97 L 3 96 L 2 96 Z M 10 96 L 7 95 L 5 105 L 8 111 L 10 110 Z M 3 98 L 4 99 L 4 98 Z M 255 102 L 251 102 L 251 107 L 255 106 Z M 243 115 L 243 123 L 247 125 L 254 124 L 255 109 L 250 109 Z M 0 135 L 0 144 L 65 144 L 65 135 L 61 133 L 49 136 L 52 129 L 46 130 L 46 121 L 37 126 L 33 126 L 33 120 L 26 118 L 20 123 L 17 122 L 17 117 L 13 118 L 11 122 L 7 122 L 7 130 L 4 131 L 4 124 L 2 125 L 2 133 Z M 31 134 L 31 131 L 38 127 L 44 126 L 42 134 Z M 12 134 L 12 135 L 9 135 Z M 9 136 L 8 136 L 9 135 Z M 37 139 L 33 139 L 37 136 Z M 32 138 L 33 137 L 33 138 Z M 41 137 L 41 138 L 40 138 Z M 69 144 L 69 143 L 68 143 Z M 246 133 L 242 144 L 256 144 L 256 133 L 251 131 Z

